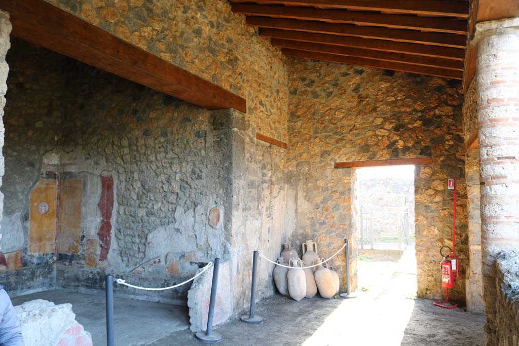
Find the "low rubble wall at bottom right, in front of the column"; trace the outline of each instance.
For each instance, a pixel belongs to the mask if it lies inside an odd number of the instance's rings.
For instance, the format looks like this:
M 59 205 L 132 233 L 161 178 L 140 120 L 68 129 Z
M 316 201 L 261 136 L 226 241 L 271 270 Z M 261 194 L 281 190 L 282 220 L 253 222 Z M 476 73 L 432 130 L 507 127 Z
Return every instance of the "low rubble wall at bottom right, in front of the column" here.
M 519 250 L 496 258 L 496 330 L 494 345 L 519 345 Z

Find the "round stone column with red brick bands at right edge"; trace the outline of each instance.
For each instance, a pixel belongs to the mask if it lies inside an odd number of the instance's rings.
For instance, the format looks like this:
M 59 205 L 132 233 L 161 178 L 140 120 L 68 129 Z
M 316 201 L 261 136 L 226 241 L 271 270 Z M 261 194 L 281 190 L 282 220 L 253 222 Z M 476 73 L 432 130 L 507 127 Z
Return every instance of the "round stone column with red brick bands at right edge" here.
M 519 247 L 519 18 L 478 23 L 477 119 L 481 163 L 483 296 L 496 340 L 496 257 Z

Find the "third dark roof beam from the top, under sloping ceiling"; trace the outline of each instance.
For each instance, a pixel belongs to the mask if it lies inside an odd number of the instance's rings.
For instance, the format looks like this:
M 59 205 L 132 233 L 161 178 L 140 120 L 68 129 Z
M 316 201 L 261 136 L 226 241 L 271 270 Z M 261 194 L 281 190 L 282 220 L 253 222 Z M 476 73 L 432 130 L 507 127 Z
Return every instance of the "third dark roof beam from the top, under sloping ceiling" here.
M 247 17 L 248 25 L 270 29 L 305 31 L 320 34 L 356 36 L 363 38 L 386 39 L 398 42 L 419 43 L 434 46 L 465 48 L 463 35 L 420 32 L 415 30 L 388 29 L 387 27 L 357 26 L 353 24 L 333 24 L 317 21 L 279 19 L 266 17 Z

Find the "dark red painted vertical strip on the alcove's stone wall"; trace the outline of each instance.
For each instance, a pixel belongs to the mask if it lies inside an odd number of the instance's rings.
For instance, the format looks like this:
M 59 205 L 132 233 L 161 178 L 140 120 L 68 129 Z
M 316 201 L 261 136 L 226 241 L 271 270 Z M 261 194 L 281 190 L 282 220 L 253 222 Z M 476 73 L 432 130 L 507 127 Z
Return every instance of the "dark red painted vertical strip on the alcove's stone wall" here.
M 98 237 L 101 247 L 100 261 L 108 256 L 110 243 L 112 242 L 112 211 L 114 209 L 114 178 L 111 175 L 101 175 L 101 198 L 98 203 L 101 212 L 101 227 L 99 227 Z

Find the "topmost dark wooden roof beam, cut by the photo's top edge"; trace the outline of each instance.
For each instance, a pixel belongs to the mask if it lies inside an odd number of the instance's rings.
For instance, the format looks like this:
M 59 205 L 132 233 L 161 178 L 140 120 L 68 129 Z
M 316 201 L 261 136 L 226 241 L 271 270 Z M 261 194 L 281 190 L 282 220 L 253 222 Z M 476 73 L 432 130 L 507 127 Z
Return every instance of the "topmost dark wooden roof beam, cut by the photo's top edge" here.
M 230 0 L 231 3 L 281 4 L 355 11 L 383 11 L 409 15 L 469 17 L 469 3 L 449 0 Z

